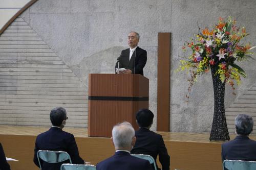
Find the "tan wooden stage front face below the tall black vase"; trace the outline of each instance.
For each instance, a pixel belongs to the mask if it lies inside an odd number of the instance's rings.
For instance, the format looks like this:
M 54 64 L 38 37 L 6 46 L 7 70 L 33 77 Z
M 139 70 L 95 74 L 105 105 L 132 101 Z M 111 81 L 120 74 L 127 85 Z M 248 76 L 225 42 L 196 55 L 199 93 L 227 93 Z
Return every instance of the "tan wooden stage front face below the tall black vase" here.
M 171 169 L 222 169 L 221 143 L 165 141 Z

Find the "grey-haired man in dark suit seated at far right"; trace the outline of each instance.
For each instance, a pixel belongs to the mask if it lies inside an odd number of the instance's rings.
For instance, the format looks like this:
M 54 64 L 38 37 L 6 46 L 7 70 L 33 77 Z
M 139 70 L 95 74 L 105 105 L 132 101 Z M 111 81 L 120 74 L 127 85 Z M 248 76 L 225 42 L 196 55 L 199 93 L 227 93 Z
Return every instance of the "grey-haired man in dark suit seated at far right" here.
M 253 128 L 253 119 L 246 114 L 239 114 L 235 119 L 236 138 L 221 145 L 222 161 L 247 160 L 256 161 L 256 141 L 249 139 Z

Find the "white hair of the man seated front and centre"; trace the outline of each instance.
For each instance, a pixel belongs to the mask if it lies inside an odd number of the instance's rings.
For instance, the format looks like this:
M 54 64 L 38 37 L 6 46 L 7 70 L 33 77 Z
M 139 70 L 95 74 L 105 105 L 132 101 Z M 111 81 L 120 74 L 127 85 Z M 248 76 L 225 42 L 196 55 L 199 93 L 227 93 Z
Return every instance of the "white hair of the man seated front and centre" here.
M 131 147 L 135 131 L 129 122 L 123 122 L 113 127 L 112 137 L 115 148 Z

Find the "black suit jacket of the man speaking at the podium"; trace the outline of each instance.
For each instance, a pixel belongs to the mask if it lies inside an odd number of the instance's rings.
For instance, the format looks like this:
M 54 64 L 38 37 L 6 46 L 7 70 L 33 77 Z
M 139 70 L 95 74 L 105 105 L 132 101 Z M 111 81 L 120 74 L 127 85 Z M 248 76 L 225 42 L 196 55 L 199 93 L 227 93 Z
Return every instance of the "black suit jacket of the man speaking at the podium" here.
M 141 74 L 143 76 L 143 68 L 146 65 L 146 51 L 140 47 L 137 47 L 135 52 L 130 57 L 130 48 L 123 50 L 119 57 L 119 68 L 126 68 L 132 70 L 132 74 Z M 134 68 L 135 60 L 135 68 Z M 116 62 L 116 67 L 118 68 L 118 62 Z

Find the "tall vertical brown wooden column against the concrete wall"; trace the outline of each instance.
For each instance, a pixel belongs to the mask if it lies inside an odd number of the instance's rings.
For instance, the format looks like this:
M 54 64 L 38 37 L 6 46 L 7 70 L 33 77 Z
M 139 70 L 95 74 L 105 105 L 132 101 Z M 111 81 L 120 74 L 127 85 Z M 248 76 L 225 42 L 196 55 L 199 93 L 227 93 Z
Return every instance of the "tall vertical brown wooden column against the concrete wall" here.
M 158 33 L 157 131 L 169 131 L 170 124 L 170 33 Z

